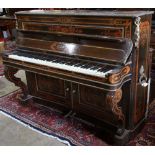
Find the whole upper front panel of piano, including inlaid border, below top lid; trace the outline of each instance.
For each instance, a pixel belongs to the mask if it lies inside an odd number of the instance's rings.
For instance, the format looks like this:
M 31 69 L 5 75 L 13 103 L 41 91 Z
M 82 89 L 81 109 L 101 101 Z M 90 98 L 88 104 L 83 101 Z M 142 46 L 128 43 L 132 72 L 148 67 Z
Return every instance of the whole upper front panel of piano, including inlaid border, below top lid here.
M 40 18 L 19 15 L 17 17 L 20 30 L 131 38 L 132 19 L 65 16 Z

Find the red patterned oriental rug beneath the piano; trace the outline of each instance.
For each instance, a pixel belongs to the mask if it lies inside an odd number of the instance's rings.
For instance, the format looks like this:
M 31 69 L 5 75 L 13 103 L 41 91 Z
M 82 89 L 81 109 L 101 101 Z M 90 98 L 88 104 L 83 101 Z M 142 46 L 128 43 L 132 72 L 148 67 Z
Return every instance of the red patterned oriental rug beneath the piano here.
M 89 126 L 78 120 L 64 117 L 60 111 L 31 103 L 22 106 L 18 103 L 19 90 L 0 98 L 0 111 L 26 124 L 28 127 L 56 137 L 68 145 L 105 146 Z M 148 122 L 141 133 L 127 145 L 155 145 L 155 104 L 150 105 Z

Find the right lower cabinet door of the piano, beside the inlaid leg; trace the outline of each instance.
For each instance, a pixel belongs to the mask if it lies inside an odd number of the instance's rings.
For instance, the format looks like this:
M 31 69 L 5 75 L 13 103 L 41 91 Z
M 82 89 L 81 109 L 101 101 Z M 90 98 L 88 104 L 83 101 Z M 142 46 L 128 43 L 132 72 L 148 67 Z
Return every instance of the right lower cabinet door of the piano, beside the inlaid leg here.
M 101 121 L 115 124 L 115 116 L 106 103 L 107 93 L 103 89 L 79 85 L 78 111 Z

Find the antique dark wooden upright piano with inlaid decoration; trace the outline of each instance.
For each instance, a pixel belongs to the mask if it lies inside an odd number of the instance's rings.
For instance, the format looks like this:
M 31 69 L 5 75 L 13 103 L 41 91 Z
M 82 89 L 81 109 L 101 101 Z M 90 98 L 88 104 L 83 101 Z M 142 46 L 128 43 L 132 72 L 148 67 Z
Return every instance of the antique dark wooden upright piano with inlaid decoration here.
M 3 55 L 5 76 L 37 101 L 100 126 L 124 145 L 147 119 L 150 11 L 16 13 L 17 49 Z M 15 73 L 26 71 L 27 85 Z

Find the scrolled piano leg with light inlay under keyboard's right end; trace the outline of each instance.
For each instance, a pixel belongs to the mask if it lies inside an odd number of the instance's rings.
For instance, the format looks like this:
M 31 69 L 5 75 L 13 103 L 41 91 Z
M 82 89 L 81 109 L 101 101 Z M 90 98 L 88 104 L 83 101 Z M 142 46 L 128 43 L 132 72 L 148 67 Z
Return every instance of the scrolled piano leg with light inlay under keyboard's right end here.
M 107 94 L 107 104 L 112 110 L 114 116 L 118 120 L 118 130 L 117 134 L 122 135 L 124 132 L 124 114 L 122 112 L 121 107 L 119 106 L 119 102 L 122 99 L 122 89 L 117 89 L 114 92 L 109 92 Z

